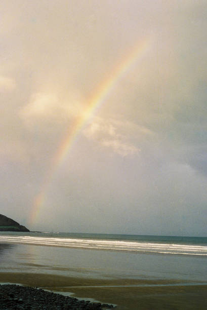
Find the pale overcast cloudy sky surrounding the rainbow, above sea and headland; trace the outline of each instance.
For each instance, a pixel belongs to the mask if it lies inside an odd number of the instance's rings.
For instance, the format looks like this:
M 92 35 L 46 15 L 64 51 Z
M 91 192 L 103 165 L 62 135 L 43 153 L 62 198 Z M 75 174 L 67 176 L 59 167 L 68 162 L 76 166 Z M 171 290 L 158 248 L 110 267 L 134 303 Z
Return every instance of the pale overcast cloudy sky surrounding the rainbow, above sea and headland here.
M 0 213 L 31 230 L 206 236 L 206 2 L 2 0 L 0 12 Z M 65 133 L 143 42 L 31 221 Z

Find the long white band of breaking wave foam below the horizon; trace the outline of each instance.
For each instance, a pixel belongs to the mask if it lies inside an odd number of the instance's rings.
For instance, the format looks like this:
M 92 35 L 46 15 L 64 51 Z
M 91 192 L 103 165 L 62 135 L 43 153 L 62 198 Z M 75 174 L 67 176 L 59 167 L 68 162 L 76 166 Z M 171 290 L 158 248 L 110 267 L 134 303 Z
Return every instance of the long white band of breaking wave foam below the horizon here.
M 68 248 L 87 248 L 96 250 L 134 251 L 142 253 L 182 254 L 207 256 L 206 246 L 170 243 L 145 243 L 136 241 L 71 239 L 32 236 L 0 236 L 0 242 L 59 246 Z

